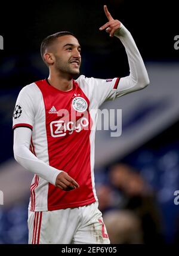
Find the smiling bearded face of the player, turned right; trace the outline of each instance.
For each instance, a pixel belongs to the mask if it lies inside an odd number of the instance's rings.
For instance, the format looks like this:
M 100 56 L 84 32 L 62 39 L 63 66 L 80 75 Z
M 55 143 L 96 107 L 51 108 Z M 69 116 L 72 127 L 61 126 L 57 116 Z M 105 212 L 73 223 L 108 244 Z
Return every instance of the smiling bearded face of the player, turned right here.
M 81 46 L 72 35 L 60 36 L 54 44 L 54 67 L 60 73 L 78 75 L 81 66 Z

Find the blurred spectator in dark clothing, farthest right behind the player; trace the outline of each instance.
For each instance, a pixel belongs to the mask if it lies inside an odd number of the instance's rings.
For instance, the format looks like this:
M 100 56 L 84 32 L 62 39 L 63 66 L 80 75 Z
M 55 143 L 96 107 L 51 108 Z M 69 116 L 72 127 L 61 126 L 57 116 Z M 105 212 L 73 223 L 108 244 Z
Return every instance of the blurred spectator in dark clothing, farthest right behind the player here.
M 110 182 L 122 193 L 123 209 L 133 212 L 141 221 L 144 243 L 163 243 L 161 215 L 152 189 L 141 175 L 125 164 L 113 165 Z

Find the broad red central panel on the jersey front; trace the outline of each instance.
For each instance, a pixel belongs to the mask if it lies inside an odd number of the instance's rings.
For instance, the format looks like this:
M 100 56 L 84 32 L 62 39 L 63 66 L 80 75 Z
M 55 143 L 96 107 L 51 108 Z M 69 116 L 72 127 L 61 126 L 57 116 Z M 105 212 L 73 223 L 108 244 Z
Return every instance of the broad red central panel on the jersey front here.
M 80 184 L 85 184 L 85 186 L 81 186 L 79 189 L 76 189 L 73 191 L 73 193 L 69 194 L 63 190 L 59 191 L 59 189 L 53 184 L 48 183 L 48 210 L 53 211 L 55 209 L 70 208 L 75 206 L 78 207 L 95 202 L 92 184 L 93 179 L 91 177 L 92 166 L 90 141 L 91 127 L 93 123 L 89 110 L 89 98 L 75 81 L 73 81 L 73 90 L 68 92 L 63 92 L 51 87 L 45 80 L 36 82 L 36 85 L 38 86 L 39 90 L 41 90 L 44 100 L 45 127 L 49 160 L 48 164 L 57 169 L 65 169 L 67 173 L 70 173 L 71 177 L 77 179 L 77 182 Z M 72 101 L 75 94 L 80 95 L 80 97 L 84 98 L 84 100 L 87 102 L 88 108 L 84 113 L 81 113 L 81 115 L 78 115 L 79 113 L 76 112 L 72 107 Z M 89 122 L 88 126 L 83 128 L 81 125 L 81 132 L 78 132 L 75 128 L 72 133 L 67 131 L 65 136 L 58 139 L 53 137 L 52 134 L 54 131 L 51 130 L 51 124 L 55 124 L 54 122 L 57 122 L 57 120 L 67 120 L 64 118 L 64 116 L 60 118 L 59 116 L 57 117 L 57 114 L 50 115 L 48 112 L 52 106 L 54 106 L 57 110 L 64 109 L 65 106 L 65 109 L 70 113 L 70 121 L 74 121 L 74 117 L 76 120 L 79 120 L 82 116 L 83 118 L 87 118 Z M 75 149 L 76 144 L 80 144 L 80 150 L 72 150 L 73 148 Z M 70 152 L 68 161 L 66 160 L 67 152 Z M 83 175 L 81 175 L 81 172 Z

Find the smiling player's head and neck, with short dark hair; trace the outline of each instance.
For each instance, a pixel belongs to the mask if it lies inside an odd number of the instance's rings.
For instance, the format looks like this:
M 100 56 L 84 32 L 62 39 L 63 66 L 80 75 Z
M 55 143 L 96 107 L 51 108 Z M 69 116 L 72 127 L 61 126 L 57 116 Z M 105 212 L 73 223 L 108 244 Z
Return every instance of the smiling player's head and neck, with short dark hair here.
M 41 55 L 50 69 L 48 82 L 59 90 L 72 88 L 73 76 L 78 75 L 81 65 L 81 46 L 70 32 L 58 32 L 44 39 Z M 63 83 L 59 83 L 59 78 Z

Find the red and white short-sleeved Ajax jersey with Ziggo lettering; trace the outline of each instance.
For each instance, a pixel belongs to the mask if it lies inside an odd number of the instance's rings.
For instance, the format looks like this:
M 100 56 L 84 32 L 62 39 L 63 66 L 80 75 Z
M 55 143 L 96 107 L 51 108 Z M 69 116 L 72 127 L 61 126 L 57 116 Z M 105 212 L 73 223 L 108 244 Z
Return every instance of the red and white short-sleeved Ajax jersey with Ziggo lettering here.
M 119 78 L 73 80 L 60 91 L 46 79 L 24 87 L 18 95 L 13 128 L 32 129 L 30 150 L 46 164 L 67 172 L 79 188 L 63 191 L 35 174 L 29 209 L 53 211 L 97 201 L 94 187 L 94 143 L 98 107 L 116 97 Z M 119 94 L 119 91 L 118 91 Z M 68 115 L 69 113 L 69 115 Z

